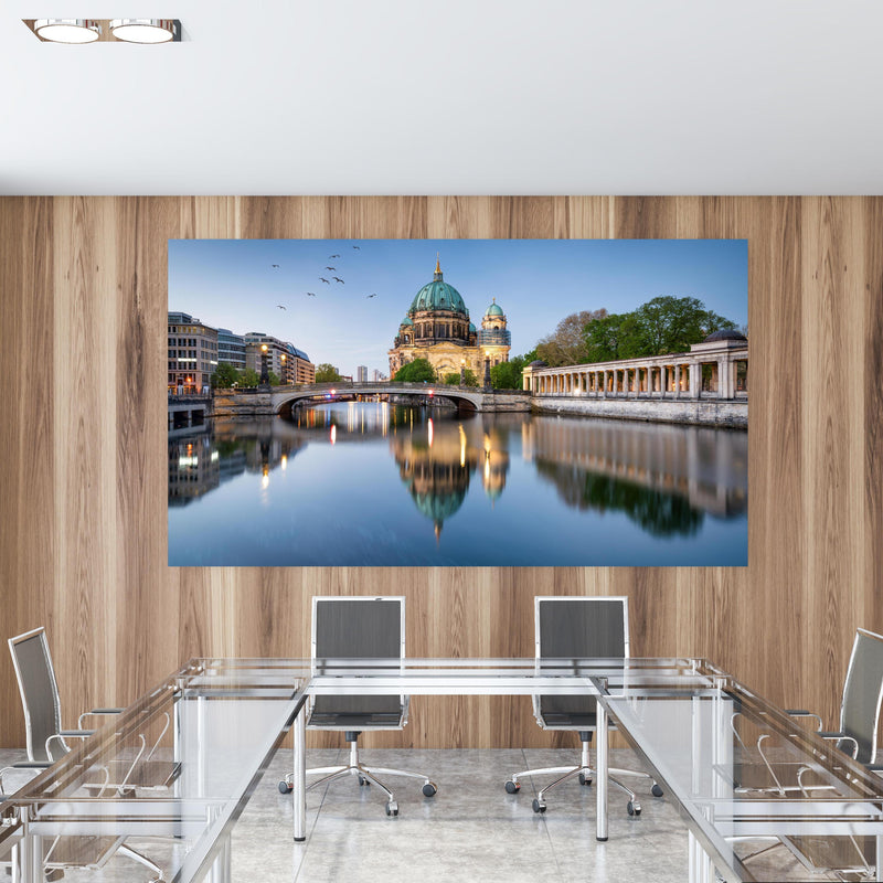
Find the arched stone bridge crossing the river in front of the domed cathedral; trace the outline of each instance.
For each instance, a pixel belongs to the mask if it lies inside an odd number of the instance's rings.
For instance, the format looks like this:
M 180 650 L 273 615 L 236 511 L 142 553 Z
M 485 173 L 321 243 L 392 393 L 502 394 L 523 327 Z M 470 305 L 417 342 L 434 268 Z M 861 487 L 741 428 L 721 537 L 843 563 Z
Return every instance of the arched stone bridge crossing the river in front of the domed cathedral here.
M 352 401 L 381 396 L 385 400 L 427 403 L 447 400 L 465 411 L 530 411 L 531 395 L 522 390 L 479 390 L 444 383 L 302 383 L 255 390 L 216 390 L 214 416 L 269 416 L 290 414 L 302 404 Z

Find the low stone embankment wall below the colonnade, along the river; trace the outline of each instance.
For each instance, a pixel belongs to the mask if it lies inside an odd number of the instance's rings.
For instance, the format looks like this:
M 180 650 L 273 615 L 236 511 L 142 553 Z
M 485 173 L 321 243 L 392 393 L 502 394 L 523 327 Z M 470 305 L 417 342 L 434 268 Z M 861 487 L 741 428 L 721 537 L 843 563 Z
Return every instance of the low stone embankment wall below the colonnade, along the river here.
M 717 400 L 616 400 L 578 398 L 570 395 L 534 395 L 533 411 L 540 414 L 573 414 L 625 421 L 687 423 L 698 426 L 748 427 L 747 402 Z

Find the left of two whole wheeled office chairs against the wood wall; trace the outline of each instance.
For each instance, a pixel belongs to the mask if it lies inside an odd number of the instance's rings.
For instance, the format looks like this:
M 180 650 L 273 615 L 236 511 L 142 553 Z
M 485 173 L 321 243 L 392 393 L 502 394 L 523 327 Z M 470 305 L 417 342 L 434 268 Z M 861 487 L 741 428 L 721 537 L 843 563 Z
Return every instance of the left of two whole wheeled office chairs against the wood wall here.
M 326 660 L 404 659 L 404 597 L 313 597 L 312 599 L 312 668 L 321 673 Z M 423 779 L 423 794 L 433 797 L 434 781 L 419 773 L 365 766 L 359 758 L 358 740 L 365 730 L 402 730 L 407 723 L 408 696 L 404 695 L 317 695 L 309 701 L 307 726 L 310 730 L 343 732 L 350 746 L 349 762 L 342 766 L 308 769 L 307 775 L 321 776 L 308 787 L 357 776 L 360 786 L 372 783 L 386 795 L 386 815 L 397 816 L 398 804 L 392 790 L 379 778 L 408 776 Z M 291 774 L 279 783 L 279 791 L 292 789 Z

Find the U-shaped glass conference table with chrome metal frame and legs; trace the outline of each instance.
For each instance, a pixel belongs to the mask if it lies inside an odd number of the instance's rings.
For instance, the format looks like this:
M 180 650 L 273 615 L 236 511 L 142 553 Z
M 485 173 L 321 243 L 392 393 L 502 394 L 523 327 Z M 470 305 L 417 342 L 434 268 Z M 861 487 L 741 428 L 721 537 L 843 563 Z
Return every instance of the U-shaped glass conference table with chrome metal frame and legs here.
M 306 838 L 308 698 L 391 693 L 595 696 L 596 838 L 608 838 L 611 719 L 687 822 L 693 883 L 775 880 L 776 853 L 809 868 L 818 842 L 883 880 L 883 779 L 699 659 L 194 659 L 3 799 L 0 865 L 42 883 L 53 857 L 157 837 L 173 843 L 168 880 L 227 883 L 233 827 L 290 728 L 294 838 Z M 173 766 L 170 783 L 156 764 Z M 743 861 L 747 838 L 790 851 Z

